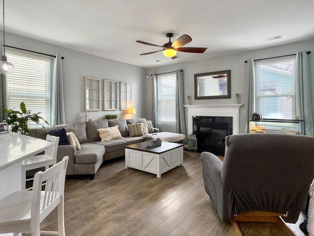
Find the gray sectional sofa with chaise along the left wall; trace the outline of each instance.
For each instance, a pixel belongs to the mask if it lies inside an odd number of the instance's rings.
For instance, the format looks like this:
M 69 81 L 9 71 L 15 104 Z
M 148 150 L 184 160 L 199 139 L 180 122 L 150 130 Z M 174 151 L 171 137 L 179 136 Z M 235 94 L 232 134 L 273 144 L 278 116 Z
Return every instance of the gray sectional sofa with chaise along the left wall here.
M 125 146 L 147 141 L 144 136 L 130 137 L 128 124 L 145 122 L 145 118 L 137 119 L 108 119 L 100 121 L 79 122 L 72 125 L 57 125 L 45 129 L 31 129 L 29 136 L 46 139 L 52 129 L 64 128 L 66 132 L 73 132 L 78 139 L 81 149 L 73 145 L 59 145 L 57 162 L 64 156 L 69 156 L 67 175 L 89 175 L 94 178 L 95 173 L 105 160 L 124 156 Z M 97 129 L 118 125 L 123 138 L 102 142 Z M 159 132 L 154 128 L 154 132 Z

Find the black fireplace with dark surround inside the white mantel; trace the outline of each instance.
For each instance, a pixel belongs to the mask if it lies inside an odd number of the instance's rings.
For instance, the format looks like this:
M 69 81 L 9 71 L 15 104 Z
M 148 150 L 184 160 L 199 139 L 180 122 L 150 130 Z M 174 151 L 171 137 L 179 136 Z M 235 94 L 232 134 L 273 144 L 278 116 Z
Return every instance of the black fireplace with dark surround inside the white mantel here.
M 193 134 L 197 138 L 197 152 L 225 154 L 225 138 L 232 135 L 232 117 L 193 117 Z

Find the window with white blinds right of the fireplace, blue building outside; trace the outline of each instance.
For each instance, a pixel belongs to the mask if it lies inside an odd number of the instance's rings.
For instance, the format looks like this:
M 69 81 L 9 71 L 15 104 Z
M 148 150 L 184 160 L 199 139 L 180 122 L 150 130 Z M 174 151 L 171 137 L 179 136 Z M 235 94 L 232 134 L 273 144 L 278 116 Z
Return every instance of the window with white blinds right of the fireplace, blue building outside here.
M 295 112 L 295 56 L 255 62 L 255 106 L 262 118 L 292 119 Z

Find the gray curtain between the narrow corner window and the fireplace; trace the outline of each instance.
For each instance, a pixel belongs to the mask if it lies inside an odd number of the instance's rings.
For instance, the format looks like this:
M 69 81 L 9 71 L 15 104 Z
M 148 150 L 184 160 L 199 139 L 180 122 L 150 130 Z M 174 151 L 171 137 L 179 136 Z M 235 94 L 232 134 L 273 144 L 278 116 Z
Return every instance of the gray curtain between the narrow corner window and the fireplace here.
M 183 107 L 183 70 L 176 70 L 177 83 L 176 83 L 176 130 L 177 133 L 184 134 L 185 139 L 183 143 L 187 143 L 185 121 L 184 121 L 184 107 Z

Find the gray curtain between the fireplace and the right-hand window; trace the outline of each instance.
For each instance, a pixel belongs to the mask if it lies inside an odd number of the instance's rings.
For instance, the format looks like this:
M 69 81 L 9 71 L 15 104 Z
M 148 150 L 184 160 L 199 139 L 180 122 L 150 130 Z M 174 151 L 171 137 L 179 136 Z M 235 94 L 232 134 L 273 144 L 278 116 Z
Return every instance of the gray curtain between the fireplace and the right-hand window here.
M 253 112 L 255 111 L 255 72 L 254 72 L 254 60 L 250 59 L 246 63 L 246 72 L 245 72 L 245 95 L 244 95 L 244 119 L 243 127 L 245 133 L 249 133 L 250 125 L 249 121 L 252 117 Z

